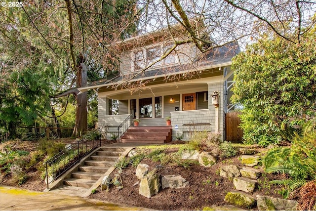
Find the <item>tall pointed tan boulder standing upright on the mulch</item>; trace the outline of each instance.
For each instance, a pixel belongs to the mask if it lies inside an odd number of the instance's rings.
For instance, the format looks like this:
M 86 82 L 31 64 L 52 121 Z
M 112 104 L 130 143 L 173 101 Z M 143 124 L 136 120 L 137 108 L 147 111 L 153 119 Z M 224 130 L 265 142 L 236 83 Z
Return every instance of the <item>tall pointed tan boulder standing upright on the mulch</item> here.
M 161 186 L 159 177 L 157 169 L 150 171 L 139 183 L 139 194 L 147 198 L 158 194 Z

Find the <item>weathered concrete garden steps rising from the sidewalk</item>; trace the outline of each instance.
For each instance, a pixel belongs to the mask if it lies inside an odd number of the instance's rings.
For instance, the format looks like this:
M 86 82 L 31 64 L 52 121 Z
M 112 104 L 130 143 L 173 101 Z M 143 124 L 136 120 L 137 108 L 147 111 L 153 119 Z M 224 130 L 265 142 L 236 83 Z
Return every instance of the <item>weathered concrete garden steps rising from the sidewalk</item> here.
M 88 159 L 82 162 L 77 171 L 64 179 L 64 185 L 90 188 L 103 174 L 115 165 L 125 148 L 102 147 Z

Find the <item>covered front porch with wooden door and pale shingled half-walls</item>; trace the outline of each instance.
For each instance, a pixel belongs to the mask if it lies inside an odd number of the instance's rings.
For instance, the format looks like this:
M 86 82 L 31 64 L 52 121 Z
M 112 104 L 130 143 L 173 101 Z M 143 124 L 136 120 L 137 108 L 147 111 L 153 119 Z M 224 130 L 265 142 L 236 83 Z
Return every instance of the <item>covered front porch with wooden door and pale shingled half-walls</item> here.
M 99 127 L 108 126 L 108 137 L 120 136 L 119 126 L 130 118 L 140 121 L 140 127 L 166 126 L 171 117 L 173 140 L 182 135 L 188 139 L 193 131 L 220 131 L 223 128 L 223 89 L 221 76 L 182 82 L 148 85 L 131 94 L 130 90 L 99 92 Z M 212 93 L 219 92 L 219 106 L 212 104 Z M 118 114 L 113 115 L 112 100 L 118 102 Z

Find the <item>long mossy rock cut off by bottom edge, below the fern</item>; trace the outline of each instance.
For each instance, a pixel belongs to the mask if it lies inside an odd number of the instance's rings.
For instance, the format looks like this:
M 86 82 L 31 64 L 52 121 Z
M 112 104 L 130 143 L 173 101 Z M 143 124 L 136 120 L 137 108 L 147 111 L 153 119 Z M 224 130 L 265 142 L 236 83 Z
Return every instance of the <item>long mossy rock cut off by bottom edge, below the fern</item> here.
M 256 196 L 257 207 L 260 211 L 296 211 L 298 203 L 294 200 L 273 198 L 270 196 Z

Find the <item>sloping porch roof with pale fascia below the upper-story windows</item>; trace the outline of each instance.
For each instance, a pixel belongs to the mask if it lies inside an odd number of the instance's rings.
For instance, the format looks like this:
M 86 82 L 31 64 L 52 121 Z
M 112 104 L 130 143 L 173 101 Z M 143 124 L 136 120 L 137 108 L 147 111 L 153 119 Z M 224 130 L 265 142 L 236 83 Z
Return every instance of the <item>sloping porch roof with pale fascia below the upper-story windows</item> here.
M 240 48 L 237 42 L 226 44 L 222 47 L 214 48 L 210 51 L 204 59 L 195 61 L 195 64 L 185 64 L 173 66 L 171 70 L 166 73 L 168 67 L 146 70 L 139 74 L 139 71 L 131 73 L 128 76 L 112 75 L 108 79 L 102 79 L 97 82 L 93 82 L 86 86 L 80 87 L 79 93 L 86 91 L 87 89 L 100 88 L 104 86 L 111 86 L 119 84 L 123 81 L 136 82 L 140 80 L 150 80 L 160 77 L 168 77 L 176 74 L 183 74 L 189 72 L 197 72 L 209 70 L 212 68 L 219 68 L 223 66 L 229 66 L 232 64 L 232 58 L 240 52 Z M 194 67 L 193 67 L 194 66 Z M 169 67 L 170 68 L 170 67 Z

